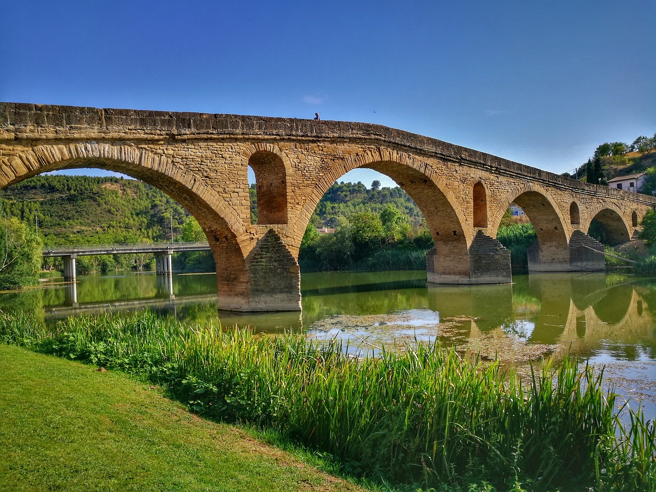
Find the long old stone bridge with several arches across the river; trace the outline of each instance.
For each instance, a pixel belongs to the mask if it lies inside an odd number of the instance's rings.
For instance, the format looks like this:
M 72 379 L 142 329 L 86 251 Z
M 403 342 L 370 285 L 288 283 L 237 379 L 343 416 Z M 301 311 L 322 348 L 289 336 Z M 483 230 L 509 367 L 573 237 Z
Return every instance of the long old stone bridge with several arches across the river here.
M 255 172 L 251 224 L 247 169 Z M 218 306 L 299 310 L 298 249 L 319 199 L 344 173 L 374 169 L 417 203 L 432 232 L 432 283 L 506 283 L 495 237 L 517 203 L 538 241 L 531 271 L 602 270 L 600 222 L 628 241 L 653 197 L 590 185 L 404 131 L 346 121 L 0 103 L 0 188 L 35 174 L 97 167 L 167 193 L 197 218 L 216 261 Z

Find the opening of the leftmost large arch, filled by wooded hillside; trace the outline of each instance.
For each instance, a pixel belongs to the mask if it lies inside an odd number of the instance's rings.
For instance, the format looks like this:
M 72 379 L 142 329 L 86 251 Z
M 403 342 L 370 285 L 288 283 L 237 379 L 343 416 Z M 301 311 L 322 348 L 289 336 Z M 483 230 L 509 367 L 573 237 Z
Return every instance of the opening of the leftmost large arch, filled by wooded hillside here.
M 88 163 L 91 165 L 91 163 Z M 87 173 L 87 174 L 81 174 Z M 91 174 L 91 175 L 89 175 Z M 149 245 L 207 242 L 194 216 L 165 192 L 141 180 L 101 169 L 40 174 L 0 190 L 5 215 L 39 229 L 44 246 L 134 245 L 132 253 L 78 255 L 79 274 L 155 270 Z M 43 258 L 43 269 L 62 270 L 61 256 Z M 176 271 L 213 271 L 209 251 L 174 254 Z

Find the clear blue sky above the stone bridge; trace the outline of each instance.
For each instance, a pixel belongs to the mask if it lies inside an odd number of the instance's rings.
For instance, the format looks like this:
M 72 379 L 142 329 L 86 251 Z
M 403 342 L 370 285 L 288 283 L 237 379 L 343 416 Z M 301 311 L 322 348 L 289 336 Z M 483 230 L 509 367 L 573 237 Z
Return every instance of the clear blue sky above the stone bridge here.
M 3 101 L 319 112 L 554 173 L 656 133 L 654 0 L 21 0 L 1 12 Z M 354 173 L 343 179 L 376 178 Z

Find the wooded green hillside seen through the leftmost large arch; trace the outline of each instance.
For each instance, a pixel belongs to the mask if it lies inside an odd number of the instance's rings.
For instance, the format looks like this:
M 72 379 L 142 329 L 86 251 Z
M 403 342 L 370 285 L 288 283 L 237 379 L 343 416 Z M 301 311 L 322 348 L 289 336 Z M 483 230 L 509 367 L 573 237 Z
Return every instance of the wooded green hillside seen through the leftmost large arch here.
M 42 174 L 0 190 L 0 207 L 36 226 L 46 246 L 165 241 L 189 213 L 143 182 Z

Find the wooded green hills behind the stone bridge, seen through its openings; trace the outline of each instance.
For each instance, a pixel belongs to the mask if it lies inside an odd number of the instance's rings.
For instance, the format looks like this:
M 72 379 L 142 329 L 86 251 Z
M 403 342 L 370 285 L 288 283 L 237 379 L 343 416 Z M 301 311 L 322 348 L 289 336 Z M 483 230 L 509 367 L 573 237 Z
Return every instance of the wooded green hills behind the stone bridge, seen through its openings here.
M 380 213 L 392 203 L 413 224 L 423 217 L 400 187 L 373 183 L 335 183 L 312 216 L 317 227 L 334 227 L 340 217 L 356 212 Z M 182 234 L 190 214 L 176 201 L 144 182 L 114 177 L 41 174 L 0 190 L 0 207 L 35 226 L 46 246 L 66 244 L 138 243 L 171 240 Z M 251 215 L 257 220 L 255 185 Z M 173 220 L 172 220 L 173 219 Z

